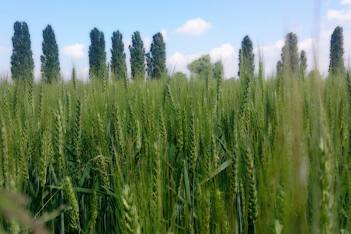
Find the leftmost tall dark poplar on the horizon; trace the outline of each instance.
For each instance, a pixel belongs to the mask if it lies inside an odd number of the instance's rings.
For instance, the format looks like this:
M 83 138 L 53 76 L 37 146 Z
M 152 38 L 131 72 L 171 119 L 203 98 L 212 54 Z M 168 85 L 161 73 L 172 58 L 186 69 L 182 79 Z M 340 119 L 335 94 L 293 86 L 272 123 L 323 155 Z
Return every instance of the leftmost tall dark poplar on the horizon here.
M 34 60 L 28 26 L 16 21 L 12 37 L 11 74 L 14 80 L 28 80 L 33 74 Z

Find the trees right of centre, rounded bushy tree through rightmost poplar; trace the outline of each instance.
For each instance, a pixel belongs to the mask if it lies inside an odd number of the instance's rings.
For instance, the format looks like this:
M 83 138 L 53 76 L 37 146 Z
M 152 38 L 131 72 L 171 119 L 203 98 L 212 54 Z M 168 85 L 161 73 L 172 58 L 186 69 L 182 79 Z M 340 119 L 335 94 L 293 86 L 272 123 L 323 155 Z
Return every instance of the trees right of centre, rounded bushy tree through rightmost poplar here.
M 276 76 L 278 78 L 283 76 L 283 73 L 297 74 L 304 77 L 307 70 L 306 51 L 298 52 L 298 39 L 296 34 L 289 33 L 286 35 L 285 45 L 282 48 L 281 59 L 276 65 Z M 330 75 L 337 73 L 345 73 L 344 65 L 344 38 L 343 28 L 338 26 L 331 35 L 331 52 L 330 52 Z M 223 65 L 220 61 L 211 64 L 209 55 L 203 55 L 199 59 L 188 64 L 187 68 L 194 74 L 200 77 L 207 77 L 209 74 L 214 74 L 215 70 L 223 70 Z M 217 67 L 217 69 L 214 69 Z M 221 68 L 220 68 L 221 67 Z M 241 42 L 239 49 L 239 71 L 238 76 L 242 71 L 248 72 L 251 77 L 254 77 L 254 47 L 253 42 L 249 36 L 245 36 Z M 211 77 L 211 75 L 210 75 Z

